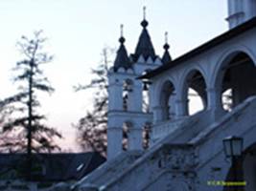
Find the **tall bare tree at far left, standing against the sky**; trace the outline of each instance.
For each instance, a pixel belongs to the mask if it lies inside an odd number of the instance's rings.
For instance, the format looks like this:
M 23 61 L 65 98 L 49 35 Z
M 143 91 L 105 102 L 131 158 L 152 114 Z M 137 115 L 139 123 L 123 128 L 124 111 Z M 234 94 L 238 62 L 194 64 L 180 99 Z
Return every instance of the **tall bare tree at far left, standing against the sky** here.
M 13 81 L 18 84 L 17 93 L 5 98 L 0 106 L 5 113 L 2 118 L 2 150 L 26 152 L 30 160 L 33 152 L 52 152 L 60 150 L 54 138 L 61 138 L 55 128 L 43 123 L 45 116 L 39 114 L 39 92 L 51 94 L 51 87 L 41 66 L 53 60 L 53 56 L 43 51 L 46 38 L 42 31 L 34 32 L 33 38 L 22 36 L 17 47 L 23 56 L 13 69 Z M 8 118 L 6 116 L 9 116 Z

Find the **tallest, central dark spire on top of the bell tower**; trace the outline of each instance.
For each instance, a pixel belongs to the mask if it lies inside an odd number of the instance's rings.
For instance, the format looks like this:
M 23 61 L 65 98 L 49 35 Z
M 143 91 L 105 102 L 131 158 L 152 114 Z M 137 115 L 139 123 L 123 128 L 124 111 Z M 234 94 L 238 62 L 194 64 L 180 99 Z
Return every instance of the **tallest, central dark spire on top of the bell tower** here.
M 152 59 L 155 58 L 154 49 L 151 43 L 151 36 L 147 30 L 148 25 L 149 22 L 146 20 L 146 7 L 143 7 L 143 20 L 141 22 L 143 30 L 140 34 L 139 41 L 135 49 L 134 61 L 137 61 L 140 55 L 143 55 L 146 60 L 149 56 L 151 56 Z

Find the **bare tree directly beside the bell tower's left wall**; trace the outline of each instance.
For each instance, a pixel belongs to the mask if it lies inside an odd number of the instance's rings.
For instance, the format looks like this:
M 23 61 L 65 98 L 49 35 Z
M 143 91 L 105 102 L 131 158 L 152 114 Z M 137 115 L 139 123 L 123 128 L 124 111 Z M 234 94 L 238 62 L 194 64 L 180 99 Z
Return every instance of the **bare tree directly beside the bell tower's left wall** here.
M 84 117 L 75 124 L 78 130 L 78 143 L 83 150 L 98 151 L 105 155 L 106 152 L 106 124 L 107 124 L 107 66 L 112 61 L 114 49 L 105 47 L 102 61 L 96 69 L 92 69 L 94 78 L 88 85 L 78 85 L 76 91 L 94 90 L 92 111 L 87 111 Z

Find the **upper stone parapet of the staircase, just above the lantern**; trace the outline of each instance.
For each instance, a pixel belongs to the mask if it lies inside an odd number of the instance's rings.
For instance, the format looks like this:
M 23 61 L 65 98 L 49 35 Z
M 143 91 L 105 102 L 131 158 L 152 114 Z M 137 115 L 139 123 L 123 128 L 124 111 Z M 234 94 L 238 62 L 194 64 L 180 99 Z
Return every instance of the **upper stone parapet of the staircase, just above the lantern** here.
M 189 143 L 195 144 L 198 147 L 199 168 L 203 168 L 212 159 L 217 158 L 218 155 L 223 155 L 223 138 L 232 135 L 244 138 L 244 148 L 253 144 L 255 139 L 246 138 L 246 136 L 255 135 L 255 113 L 256 96 L 250 96 L 243 103 L 236 106 L 230 113 L 227 113 L 219 121 L 209 125 L 204 131 L 201 131 L 197 137 L 191 139 Z

